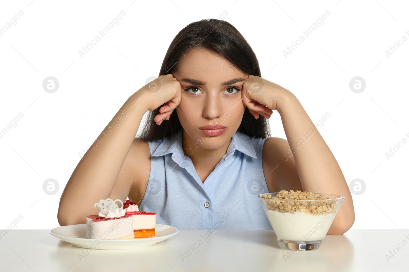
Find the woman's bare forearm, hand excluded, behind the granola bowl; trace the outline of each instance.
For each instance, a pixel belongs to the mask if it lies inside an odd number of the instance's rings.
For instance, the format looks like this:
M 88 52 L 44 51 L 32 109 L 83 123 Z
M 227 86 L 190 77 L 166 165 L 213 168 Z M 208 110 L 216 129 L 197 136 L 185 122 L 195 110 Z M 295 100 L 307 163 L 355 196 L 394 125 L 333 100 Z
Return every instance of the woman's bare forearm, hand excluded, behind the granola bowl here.
M 288 90 L 280 93 L 276 109 L 283 122 L 301 186 L 304 191 L 345 197 L 328 230 L 328 234 L 343 234 L 353 225 L 355 212 L 341 168 L 297 97 Z M 291 156 L 289 150 L 285 151 Z

